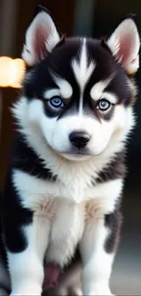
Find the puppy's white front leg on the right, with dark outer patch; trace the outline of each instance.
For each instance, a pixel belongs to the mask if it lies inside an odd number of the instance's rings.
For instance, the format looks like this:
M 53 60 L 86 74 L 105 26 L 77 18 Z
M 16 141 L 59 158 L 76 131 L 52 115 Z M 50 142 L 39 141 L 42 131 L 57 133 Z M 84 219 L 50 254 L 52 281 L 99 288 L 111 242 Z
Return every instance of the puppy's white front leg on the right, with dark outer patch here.
M 111 295 L 109 280 L 120 225 L 118 210 L 108 215 L 99 210 L 87 220 L 80 242 L 84 295 Z

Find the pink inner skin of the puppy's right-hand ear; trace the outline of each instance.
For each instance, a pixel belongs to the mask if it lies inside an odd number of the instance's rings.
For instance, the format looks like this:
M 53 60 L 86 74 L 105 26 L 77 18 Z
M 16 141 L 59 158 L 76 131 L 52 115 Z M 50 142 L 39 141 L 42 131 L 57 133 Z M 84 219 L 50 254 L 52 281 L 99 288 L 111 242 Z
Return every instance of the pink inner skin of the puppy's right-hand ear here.
M 122 36 L 122 38 L 119 40 L 119 50 L 118 50 L 118 57 L 121 59 L 122 64 L 125 64 L 126 61 L 132 57 L 132 50 L 133 50 L 133 44 L 134 40 L 130 36 L 130 34 L 126 36 Z

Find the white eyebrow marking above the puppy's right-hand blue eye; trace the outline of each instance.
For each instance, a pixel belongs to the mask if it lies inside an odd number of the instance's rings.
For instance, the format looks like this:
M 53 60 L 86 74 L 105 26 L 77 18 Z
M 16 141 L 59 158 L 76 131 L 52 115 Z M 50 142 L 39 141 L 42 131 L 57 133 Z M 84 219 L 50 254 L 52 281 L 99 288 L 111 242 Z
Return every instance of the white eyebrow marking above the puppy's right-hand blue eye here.
M 106 80 L 98 81 L 94 87 L 90 90 L 90 96 L 95 99 L 96 101 L 102 97 L 102 94 L 105 90 L 105 88 L 110 84 L 112 79 L 115 77 L 115 75 L 112 75 L 111 77 L 107 78 Z

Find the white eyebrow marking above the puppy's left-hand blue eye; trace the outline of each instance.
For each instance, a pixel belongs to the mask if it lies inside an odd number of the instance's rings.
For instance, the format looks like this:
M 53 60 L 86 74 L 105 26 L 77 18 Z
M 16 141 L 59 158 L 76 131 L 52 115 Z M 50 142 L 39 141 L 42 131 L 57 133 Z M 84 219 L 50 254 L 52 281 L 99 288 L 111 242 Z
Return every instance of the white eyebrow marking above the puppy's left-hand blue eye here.
M 63 77 L 59 77 L 57 74 L 51 72 L 51 76 L 55 81 L 57 87 L 59 87 L 59 92 L 61 97 L 69 98 L 73 94 L 73 88 L 68 81 Z

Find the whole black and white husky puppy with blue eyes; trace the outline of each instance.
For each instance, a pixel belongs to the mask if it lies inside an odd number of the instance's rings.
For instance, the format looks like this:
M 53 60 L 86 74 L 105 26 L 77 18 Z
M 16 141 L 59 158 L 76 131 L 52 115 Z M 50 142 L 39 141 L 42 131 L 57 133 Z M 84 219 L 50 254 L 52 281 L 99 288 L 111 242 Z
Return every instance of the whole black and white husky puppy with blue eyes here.
M 40 295 L 44 260 L 64 268 L 76 247 L 83 294 L 111 294 L 139 45 L 131 15 L 105 41 L 64 38 L 43 7 L 27 29 L 2 219 L 11 295 Z

